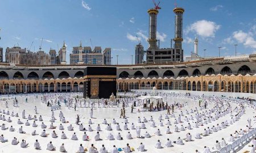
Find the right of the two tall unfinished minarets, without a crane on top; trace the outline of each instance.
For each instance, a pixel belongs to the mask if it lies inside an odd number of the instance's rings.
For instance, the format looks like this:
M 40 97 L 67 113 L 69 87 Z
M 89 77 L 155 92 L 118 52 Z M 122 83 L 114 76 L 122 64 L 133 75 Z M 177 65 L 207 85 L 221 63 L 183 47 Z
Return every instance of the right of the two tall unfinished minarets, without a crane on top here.
M 175 36 L 174 36 L 174 42 L 175 42 L 175 48 L 181 49 L 181 42 L 183 41 L 183 12 L 184 8 L 181 7 L 175 7 L 174 13 L 175 13 Z

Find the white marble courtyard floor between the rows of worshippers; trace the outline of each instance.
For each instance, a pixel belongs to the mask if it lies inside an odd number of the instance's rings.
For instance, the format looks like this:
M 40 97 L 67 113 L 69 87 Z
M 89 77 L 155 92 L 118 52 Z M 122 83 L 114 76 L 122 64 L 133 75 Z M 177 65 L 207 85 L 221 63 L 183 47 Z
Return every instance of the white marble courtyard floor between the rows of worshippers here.
M 208 124 L 204 124 L 204 126 L 199 126 L 199 128 L 194 128 L 194 122 L 196 120 L 195 118 L 195 112 L 191 113 L 191 109 L 195 110 L 196 107 L 199 109 L 199 99 L 190 99 L 189 97 L 185 97 L 185 96 L 177 96 L 177 97 L 169 97 L 167 99 L 164 100 L 164 104 L 166 104 L 166 101 L 168 102 L 168 105 L 170 104 L 174 104 L 174 101 L 179 102 L 180 104 L 185 104 L 185 102 L 187 102 L 187 105 L 184 105 L 183 108 L 181 109 L 174 109 L 174 114 L 175 117 L 171 117 L 170 115 L 168 117 L 170 117 L 168 120 L 171 121 L 171 125 L 166 125 L 167 119 L 165 119 L 165 115 L 167 114 L 167 110 L 164 111 L 159 111 L 159 112 L 137 112 L 137 109 L 140 107 L 135 107 L 134 108 L 134 113 L 131 113 L 131 104 L 129 104 L 128 107 L 126 107 L 126 117 L 128 119 L 128 128 L 130 130 L 123 130 L 123 125 L 125 122 L 125 119 L 123 118 L 119 118 L 120 117 L 120 112 L 121 112 L 121 104 L 119 105 L 119 107 L 114 106 L 114 107 L 110 107 L 110 108 L 102 108 L 102 104 L 100 104 L 100 107 L 98 107 L 98 104 L 95 104 L 95 108 L 93 108 L 93 118 L 90 118 L 90 108 L 77 108 L 77 111 L 74 110 L 74 108 L 70 108 L 68 109 L 68 107 L 65 107 L 63 103 L 61 103 L 61 109 L 60 110 L 56 110 L 54 111 L 55 114 L 55 122 L 53 122 L 53 125 L 56 126 L 56 129 L 49 129 L 49 126 L 51 124 L 50 120 L 51 120 L 51 107 L 47 107 L 47 105 L 45 103 L 42 103 L 41 101 L 41 97 L 42 95 L 38 95 L 38 99 L 35 99 L 35 95 L 15 95 L 16 98 L 19 101 L 19 106 L 18 107 L 14 107 L 13 106 L 13 97 L 8 97 L 7 101 L 8 101 L 8 107 L 6 108 L 6 101 L 1 101 L 0 103 L 0 110 L 2 113 L 2 116 L 5 115 L 6 120 L 10 117 L 11 118 L 11 122 L 7 122 L 7 121 L 3 121 L 0 120 L 0 125 L 5 124 L 6 128 L 10 128 L 10 126 L 13 126 L 13 128 L 15 129 L 15 131 L 9 131 L 9 129 L 6 130 L 0 130 L 0 134 L 4 135 L 5 139 L 8 139 L 7 142 L 2 143 L 0 142 L 0 152 L 59 152 L 59 148 L 61 146 L 62 143 L 64 143 L 65 149 L 67 150 L 67 152 L 76 152 L 79 150 L 79 146 L 80 143 L 82 144 L 82 146 L 84 146 L 85 148 L 90 147 L 91 144 L 94 144 L 94 146 L 100 150 L 102 145 L 105 145 L 106 150 L 108 150 L 108 152 L 110 152 L 113 148 L 113 145 L 115 145 L 117 148 L 124 148 L 126 147 L 126 143 L 129 143 L 129 145 L 133 148 L 135 148 L 135 152 L 138 152 L 137 148 L 139 147 L 140 143 L 142 142 L 143 145 L 145 146 L 146 152 L 196 152 L 196 150 L 203 152 L 204 151 L 204 146 L 207 146 L 210 148 L 210 151 L 216 151 L 213 150 L 212 147 L 216 144 L 216 141 L 218 140 L 219 142 L 221 142 L 221 138 L 224 138 L 225 141 L 228 144 L 231 144 L 232 142 L 228 142 L 228 139 L 230 137 L 230 134 L 235 135 L 235 131 L 240 131 L 240 129 L 246 130 L 246 125 L 247 125 L 247 119 L 251 118 L 251 130 L 253 130 L 253 128 L 256 128 L 255 123 L 255 108 L 253 109 L 252 107 L 250 107 L 249 105 L 245 104 L 245 113 L 241 114 L 241 117 L 234 122 L 232 125 L 229 124 L 229 126 L 226 126 L 226 128 L 218 130 L 217 132 L 212 132 L 212 134 L 209 134 L 206 137 L 203 137 L 203 135 L 201 135 L 201 139 L 196 139 L 195 136 L 197 133 L 204 133 L 204 129 L 212 128 L 213 126 L 216 126 L 217 124 L 221 125 L 221 122 L 225 122 L 227 121 L 228 123 L 230 122 L 230 120 L 232 120 L 232 116 L 230 116 L 230 113 L 226 114 L 223 117 L 217 118 L 217 120 L 215 121 L 211 121 Z M 28 102 L 26 103 L 25 99 L 28 99 Z M 207 99 L 207 98 L 206 98 Z M 224 100 L 224 99 L 221 99 Z M 233 100 L 230 99 L 230 105 L 232 107 L 232 110 L 234 110 L 236 107 L 239 108 L 239 105 L 237 103 L 232 103 Z M 223 101 L 224 103 L 226 103 L 227 101 Z M 203 109 L 200 110 L 199 109 L 199 113 L 203 113 L 205 111 L 209 111 L 209 109 L 212 109 L 214 107 L 214 102 L 213 101 L 208 101 L 209 105 L 207 107 L 207 109 Z M 88 105 L 88 104 L 87 104 Z M 35 106 L 37 107 L 37 112 L 38 114 L 35 114 L 34 108 Z M 226 105 L 225 105 L 226 106 Z M 226 108 L 225 108 L 226 109 Z M 5 112 L 9 111 L 10 115 L 7 114 L 3 114 L 3 110 L 5 110 Z M 28 117 L 28 114 L 30 114 L 32 117 L 34 117 L 34 115 L 37 116 L 37 118 L 39 118 L 39 116 L 41 115 L 43 118 L 43 122 L 44 124 L 47 125 L 46 133 L 48 133 L 48 137 L 41 137 L 40 134 L 42 133 L 43 129 L 41 128 L 41 124 L 42 122 L 40 121 L 35 121 L 36 124 L 38 125 L 38 127 L 32 127 L 32 123 L 34 120 L 29 120 L 28 122 L 30 122 L 30 126 L 26 126 L 25 122 L 27 121 L 27 119 L 23 119 L 22 118 L 22 111 L 25 110 L 26 112 L 26 118 Z M 188 110 L 189 114 L 185 114 L 186 110 Z M 69 121 L 69 123 L 65 123 L 63 124 L 64 126 L 64 130 L 59 130 L 59 125 L 61 124 L 61 121 L 59 119 L 59 113 L 60 111 L 63 112 L 65 120 Z M 174 124 L 175 119 L 179 116 L 179 114 L 181 114 L 181 111 L 184 113 L 184 116 L 181 116 L 181 121 L 183 121 L 182 123 L 178 123 L 178 124 Z M 19 117 L 12 117 L 11 113 L 14 112 L 14 114 L 18 113 Z M 233 117 L 234 115 L 236 115 L 238 112 L 233 111 Z M 90 125 L 93 129 L 93 131 L 86 131 L 86 134 L 89 136 L 89 141 L 82 141 L 82 135 L 84 134 L 84 131 L 80 131 L 79 130 L 79 125 L 77 125 L 76 122 L 76 115 L 79 114 L 80 115 L 80 123 L 82 123 L 84 125 L 84 128 L 86 130 L 88 130 L 88 121 L 89 119 L 92 120 L 93 124 Z M 159 116 L 160 114 L 162 114 L 163 116 L 163 120 L 161 120 L 161 122 L 163 122 L 163 126 L 159 126 Z M 189 120 L 188 122 L 184 120 L 185 116 L 190 117 L 190 116 L 194 117 L 194 120 Z M 141 136 L 144 136 L 144 133 L 146 133 L 146 131 L 152 136 L 151 138 L 137 138 L 137 132 L 135 129 L 131 129 L 131 123 L 133 123 L 135 125 L 135 128 L 137 126 L 141 127 L 142 123 L 138 123 L 138 117 L 141 118 L 141 120 L 143 121 L 143 117 L 145 117 L 147 120 L 150 120 L 150 117 L 152 116 L 156 127 L 153 128 L 151 127 L 151 122 L 145 122 L 146 125 L 146 129 L 141 129 Z M 214 113 L 212 113 L 212 117 L 214 117 Z M 106 130 L 106 126 L 105 124 L 102 124 L 102 122 L 104 121 L 104 118 L 107 120 L 107 122 L 109 124 L 111 124 L 112 129 L 111 131 Z M 116 130 L 114 124 L 112 124 L 113 118 L 115 118 L 116 122 L 119 123 L 121 131 Z M 19 125 L 17 124 L 18 119 L 20 119 L 24 124 Z M 185 129 L 184 131 L 180 131 L 180 127 L 181 125 L 183 125 L 184 127 L 188 126 L 188 123 L 191 124 L 192 129 L 188 130 Z M 100 124 L 101 126 L 101 131 L 99 131 L 100 133 L 100 138 L 102 139 L 102 141 L 95 141 L 94 140 L 94 136 L 96 135 L 97 131 L 96 131 L 96 127 L 97 125 Z M 72 125 L 73 126 L 73 131 L 69 131 L 68 130 L 68 126 Z M 20 134 L 19 128 L 20 126 L 23 126 L 23 131 L 26 132 L 26 134 Z M 167 126 L 170 126 L 170 131 L 171 134 L 166 134 L 166 129 Z M 178 132 L 175 132 L 175 126 L 177 126 L 179 128 Z M 161 131 L 161 135 L 155 135 L 156 130 L 159 129 Z M 39 135 L 31 135 L 32 131 L 36 130 L 36 133 L 38 133 Z M 51 134 L 52 131 L 55 130 L 56 134 L 58 135 L 57 138 L 52 138 Z M 64 131 L 64 133 L 67 135 L 67 139 L 61 139 L 61 132 Z M 127 133 L 130 131 L 131 133 L 131 137 L 133 137 L 133 139 L 127 139 L 126 135 Z M 78 140 L 71 140 L 72 134 L 76 133 Z M 114 140 L 110 141 L 107 139 L 107 136 L 109 133 L 112 133 L 114 135 Z M 118 135 L 118 133 L 120 133 L 123 137 L 123 140 L 117 140 L 116 136 Z M 192 135 L 192 141 L 186 142 L 184 139 L 186 138 L 186 134 L 190 133 Z M 28 147 L 26 148 L 22 148 L 20 147 L 20 143 L 18 145 L 11 145 L 11 141 L 13 140 L 13 138 L 16 137 L 17 140 L 19 142 L 22 141 L 22 139 L 26 140 L 26 143 L 28 143 Z M 183 143 L 184 145 L 177 145 L 174 143 L 174 141 L 177 141 L 177 138 L 180 137 L 181 139 L 183 139 Z M 240 135 L 241 137 L 241 135 Z M 165 143 L 167 142 L 167 138 L 169 138 L 172 141 L 172 145 L 173 147 L 164 147 Z M 35 150 L 34 148 L 34 143 L 35 140 L 38 139 L 38 142 L 40 143 L 41 146 L 41 150 Z M 156 148 L 156 142 L 160 141 L 162 143 L 162 147 L 163 148 Z M 48 151 L 46 150 L 47 148 L 47 144 L 52 141 L 53 146 L 56 147 L 56 151 Z M 250 151 L 251 147 L 249 147 L 249 145 L 251 145 L 252 143 L 249 142 L 248 144 L 242 146 L 242 148 L 237 151 L 237 152 L 244 152 L 244 151 Z M 121 151 L 124 152 L 124 151 Z

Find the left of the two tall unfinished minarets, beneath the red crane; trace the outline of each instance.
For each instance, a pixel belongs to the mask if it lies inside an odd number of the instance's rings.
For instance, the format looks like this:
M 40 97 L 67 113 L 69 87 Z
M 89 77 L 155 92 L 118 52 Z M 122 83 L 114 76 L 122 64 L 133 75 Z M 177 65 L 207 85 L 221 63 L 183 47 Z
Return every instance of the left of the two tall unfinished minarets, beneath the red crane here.
M 158 10 L 151 8 L 147 11 L 150 16 L 149 19 L 149 30 L 148 30 L 148 50 L 156 49 L 156 19 L 158 15 Z

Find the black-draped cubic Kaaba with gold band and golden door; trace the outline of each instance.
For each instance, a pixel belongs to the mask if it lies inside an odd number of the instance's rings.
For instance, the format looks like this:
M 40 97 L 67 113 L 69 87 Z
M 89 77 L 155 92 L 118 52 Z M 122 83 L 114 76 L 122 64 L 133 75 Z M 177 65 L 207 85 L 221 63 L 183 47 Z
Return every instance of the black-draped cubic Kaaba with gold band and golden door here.
M 86 67 L 84 70 L 84 98 L 109 99 L 117 95 L 116 67 Z

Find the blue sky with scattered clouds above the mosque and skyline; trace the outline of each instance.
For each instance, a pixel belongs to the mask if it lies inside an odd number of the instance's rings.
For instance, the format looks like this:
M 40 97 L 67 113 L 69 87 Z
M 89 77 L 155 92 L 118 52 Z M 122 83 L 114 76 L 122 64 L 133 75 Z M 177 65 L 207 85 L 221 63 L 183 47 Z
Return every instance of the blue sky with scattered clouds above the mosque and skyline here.
M 174 37 L 173 8 L 185 9 L 183 15 L 184 56 L 193 51 L 193 39 L 199 37 L 199 54 L 218 56 L 256 53 L 256 1 L 171 1 L 162 0 L 158 14 L 158 39 L 161 48 L 170 47 Z M 18 45 L 37 51 L 41 44 L 47 53 L 62 46 L 68 54 L 72 46 L 111 47 L 113 63 L 131 63 L 136 35 L 148 47 L 148 8 L 151 0 L 0 0 L 0 46 Z M 69 56 L 67 56 L 69 62 Z

